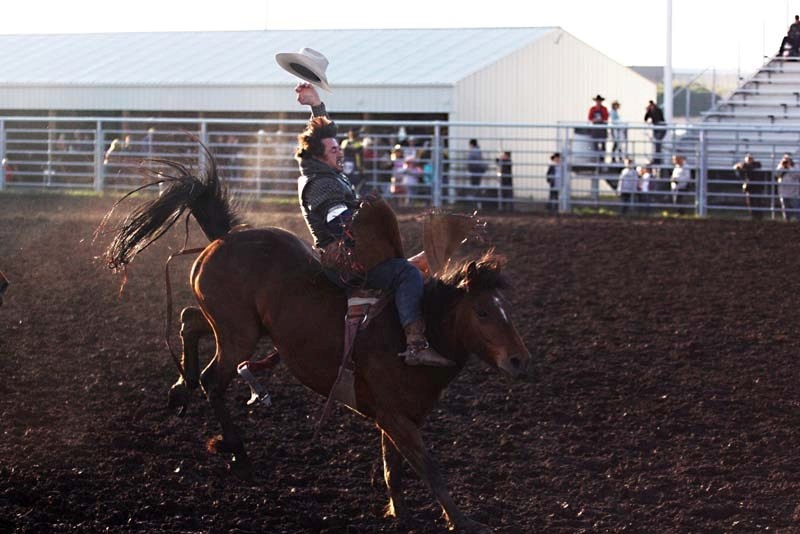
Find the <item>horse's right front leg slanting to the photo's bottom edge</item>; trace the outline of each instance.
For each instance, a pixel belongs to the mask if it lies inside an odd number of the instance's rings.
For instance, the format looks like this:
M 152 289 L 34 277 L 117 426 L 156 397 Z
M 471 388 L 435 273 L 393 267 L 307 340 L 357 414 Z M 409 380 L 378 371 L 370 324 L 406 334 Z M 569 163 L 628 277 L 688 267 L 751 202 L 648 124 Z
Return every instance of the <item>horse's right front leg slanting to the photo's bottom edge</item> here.
M 442 506 L 447 520 L 456 530 L 474 533 L 490 533 L 492 531 L 486 525 L 469 519 L 458 509 L 447 489 L 447 482 L 439 472 L 436 462 L 425 449 L 422 435 L 414 422 L 401 415 L 384 414 L 384 417 L 379 417 L 378 425 L 388 434 L 389 439 L 411 464 L 414 471 L 428 484 L 436 500 Z

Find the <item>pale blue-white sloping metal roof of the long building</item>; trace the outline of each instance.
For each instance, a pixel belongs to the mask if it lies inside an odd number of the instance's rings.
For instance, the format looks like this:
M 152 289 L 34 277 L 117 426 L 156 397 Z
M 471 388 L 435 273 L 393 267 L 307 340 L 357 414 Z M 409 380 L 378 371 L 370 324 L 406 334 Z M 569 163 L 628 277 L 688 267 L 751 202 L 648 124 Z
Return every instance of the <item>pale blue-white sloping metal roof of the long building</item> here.
M 0 86 L 249 86 L 296 81 L 277 52 L 324 53 L 337 85 L 453 85 L 557 28 L 0 35 Z

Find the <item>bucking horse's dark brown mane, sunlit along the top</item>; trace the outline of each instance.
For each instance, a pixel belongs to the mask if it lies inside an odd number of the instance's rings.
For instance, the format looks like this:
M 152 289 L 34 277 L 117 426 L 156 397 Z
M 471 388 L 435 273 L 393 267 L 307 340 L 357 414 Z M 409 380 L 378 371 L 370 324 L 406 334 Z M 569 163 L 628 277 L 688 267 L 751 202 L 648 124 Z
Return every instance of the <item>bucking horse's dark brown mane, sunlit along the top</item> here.
M 489 250 L 477 261 L 458 262 L 448 267 L 439 278 L 430 279 L 425 284 L 423 309 L 431 333 L 439 330 L 441 320 L 467 292 L 510 287 L 502 273 L 505 263 L 503 256 Z

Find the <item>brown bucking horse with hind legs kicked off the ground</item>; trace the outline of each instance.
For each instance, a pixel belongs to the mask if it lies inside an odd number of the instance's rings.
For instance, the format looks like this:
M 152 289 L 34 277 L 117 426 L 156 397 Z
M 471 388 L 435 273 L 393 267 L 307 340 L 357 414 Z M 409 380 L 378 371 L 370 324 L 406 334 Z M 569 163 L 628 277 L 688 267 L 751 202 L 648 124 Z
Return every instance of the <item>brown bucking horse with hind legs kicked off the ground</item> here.
M 279 228 L 231 231 L 238 219 L 210 154 L 201 177 L 179 164 L 162 163 L 177 171 L 168 177 L 157 173 L 160 181 L 170 182 L 168 188 L 128 216 L 107 258 L 112 267 L 122 267 L 183 211 L 190 210 L 197 219 L 211 241 L 190 275 L 202 318 L 191 308 L 185 310 L 182 334 L 193 330 L 202 335 L 208 325 L 213 330 L 216 354 L 199 382 L 222 426 L 217 450 L 231 453 L 231 467 L 247 475 L 251 466 L 224 399 L 237 365 L 249 359 L 259 339 L 268 335 L 289 371 L 327 396 L 341 361 L 346 296 L 325 277 L 309 245 L 295 235 Z M 423 310 L 430 342 L 456 363 L 454 367 L 406 366 L 397 357 L 405 341 L 393 307 L 376 316 L 356 339 L 356 403 L 351 408 L 374 420 L 381 431 L 387 515 L 404 512 L 405 458 L 429 484 L 455 527 L 486 530 L 456 506 L 423 444 L 420 425 L 471 354 L 512 377 L 525 373 L 530 354 L 500 293 L 506 287 L 500 268 L 499 258 L 487 254 L 426 284 Z M 196 349 L 196 344 L 187 346 L 182 377 L 172 390 L 173 397 L 184 401 L 198 381 Z

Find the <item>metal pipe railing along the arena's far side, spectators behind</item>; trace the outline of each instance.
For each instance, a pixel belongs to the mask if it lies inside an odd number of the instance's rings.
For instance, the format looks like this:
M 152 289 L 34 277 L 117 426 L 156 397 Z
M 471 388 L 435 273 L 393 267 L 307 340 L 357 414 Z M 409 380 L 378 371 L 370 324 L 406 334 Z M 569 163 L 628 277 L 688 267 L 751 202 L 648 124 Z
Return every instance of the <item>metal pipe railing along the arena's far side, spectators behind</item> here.
M 361 192 L 397 206 L 481 210 L 754 216 L 791 220 L 800 175 L 777 167 L 800 147 L 800 124 L 496 124 L 337 121 L 346 171 Z M 239 193 L 297 195 L 302 120 L 0 117 L 0 190 L 129 190 L 148 159 L 197 167 L 202 141 Z M 351 133 L 352 132 L 352 133 Z M 348 137 L 352 136 L 352 139 Z M 471 139 L 482 160 L 470 156 Z M 560 153 L 560 161 L 551 155 Z M 734 165 L 761 169 L 747 189 Z M 673 180 L 674 157 L 689 177 Z M 620 187 L 626 163 L 637 179 Z M 147 163 L 145 163 L 147 164 Z M 555 172 L 548 168 L 555 165 Z M 791 169 L 789 169 L 791 170 Z M 630 177 L 630 174 L 629 174 Z M 622 189 L 622 191 L 620 191 Z M 626 194 L 627 193 L 627 194 Z

